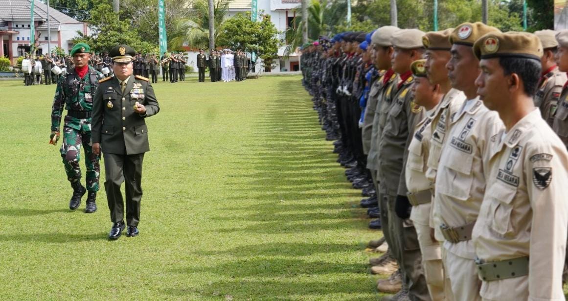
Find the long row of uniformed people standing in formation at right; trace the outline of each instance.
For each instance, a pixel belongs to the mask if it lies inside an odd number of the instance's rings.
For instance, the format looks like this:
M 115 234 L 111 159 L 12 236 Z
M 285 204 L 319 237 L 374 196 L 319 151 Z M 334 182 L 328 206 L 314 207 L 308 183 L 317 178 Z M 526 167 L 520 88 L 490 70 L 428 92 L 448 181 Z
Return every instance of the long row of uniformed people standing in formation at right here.
M 386 300 L 565 299 L 568 31 L 385 26 L 301 59 L 346 174 L 374 188 Z

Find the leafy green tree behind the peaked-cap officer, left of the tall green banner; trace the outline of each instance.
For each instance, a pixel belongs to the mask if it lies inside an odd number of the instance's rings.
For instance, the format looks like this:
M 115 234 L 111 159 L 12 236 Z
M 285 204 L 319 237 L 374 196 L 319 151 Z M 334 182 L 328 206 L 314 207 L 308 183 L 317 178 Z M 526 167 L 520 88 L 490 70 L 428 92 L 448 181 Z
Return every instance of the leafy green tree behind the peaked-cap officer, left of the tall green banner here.
M 112 12 L 110 0 L 93 0 L 89 27 L 94 34 L 83 35 L 73 39 L 73 43 L 87 43 L 95 52 L 109 51 L 118 44 L 127 44 L 138 52 L 156 52 L 157 43 L 148 43 L 140 39 L 131 20 L 119 20 L 118 14 Z

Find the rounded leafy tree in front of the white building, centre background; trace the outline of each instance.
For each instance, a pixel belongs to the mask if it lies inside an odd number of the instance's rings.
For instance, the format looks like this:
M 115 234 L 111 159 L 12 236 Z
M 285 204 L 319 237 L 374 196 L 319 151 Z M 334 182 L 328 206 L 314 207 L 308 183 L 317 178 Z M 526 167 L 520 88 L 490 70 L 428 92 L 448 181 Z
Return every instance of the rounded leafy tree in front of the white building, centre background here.
M 270 66 L 278 57 L 278 30 L 270 20 L 270 15 L 259 16 L 258 22 L 250 20 L 250 12 L 227 19 L 223 31 L 220 32 L 218 44 L 249 53 L 255 52 L 262 58 L 265 66 Z

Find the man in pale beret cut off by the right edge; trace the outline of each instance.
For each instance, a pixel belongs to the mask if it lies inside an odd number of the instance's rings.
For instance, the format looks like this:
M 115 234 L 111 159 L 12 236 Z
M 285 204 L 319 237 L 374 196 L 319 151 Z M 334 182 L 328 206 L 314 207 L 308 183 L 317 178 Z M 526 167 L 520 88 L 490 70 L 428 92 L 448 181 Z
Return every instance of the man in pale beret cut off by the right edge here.
M 556 54 L 556 64 L 560 72 L 568 72 L 568 30 L 559 31 L 556 34 L 558 41 L 558 53 Z M 560 137 L 560 140 L 568 148 L 568 82 L 562 89 L 562 94 L 558 101 L 558 107 L 554 114 L 552 129 Z

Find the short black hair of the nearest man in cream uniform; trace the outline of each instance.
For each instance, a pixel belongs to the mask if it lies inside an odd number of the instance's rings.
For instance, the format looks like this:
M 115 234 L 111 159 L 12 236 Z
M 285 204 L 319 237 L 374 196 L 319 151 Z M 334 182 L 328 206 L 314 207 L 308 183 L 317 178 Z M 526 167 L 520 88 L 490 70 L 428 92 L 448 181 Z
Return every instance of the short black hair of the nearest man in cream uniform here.
M 503 68 L 503 73 L 506 76 L 513 73 L 517 74 L 523 80 L 525 94 L 534 97 L 542 72 L 540 61 L 532 58 L 500 57 L 499 65 Z

